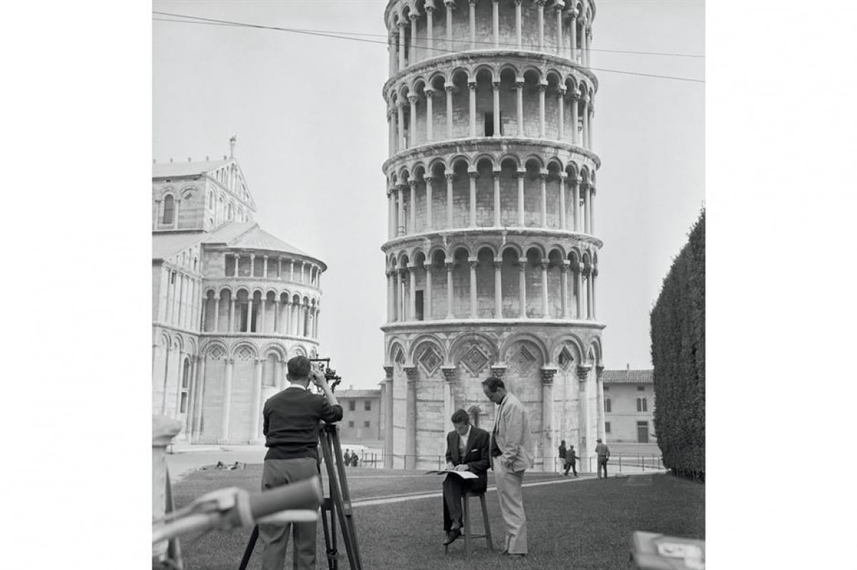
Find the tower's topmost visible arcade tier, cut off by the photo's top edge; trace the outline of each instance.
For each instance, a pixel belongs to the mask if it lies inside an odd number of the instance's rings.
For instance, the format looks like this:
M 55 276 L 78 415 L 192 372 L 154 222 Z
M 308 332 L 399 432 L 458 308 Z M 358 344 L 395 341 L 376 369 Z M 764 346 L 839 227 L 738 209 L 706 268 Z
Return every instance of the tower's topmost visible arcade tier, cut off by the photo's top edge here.
M 450 52 L 516 49 L 590 67 L 594 1 L 391 0 L 389 73 Z

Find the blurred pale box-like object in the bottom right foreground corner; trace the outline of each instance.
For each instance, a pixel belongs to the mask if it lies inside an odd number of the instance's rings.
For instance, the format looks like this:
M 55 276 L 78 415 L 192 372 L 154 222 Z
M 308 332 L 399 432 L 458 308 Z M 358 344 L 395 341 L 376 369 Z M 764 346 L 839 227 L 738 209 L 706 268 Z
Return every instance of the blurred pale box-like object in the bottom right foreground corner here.
M 634 531 L 632 570 L 705 570 L 705 541 Z

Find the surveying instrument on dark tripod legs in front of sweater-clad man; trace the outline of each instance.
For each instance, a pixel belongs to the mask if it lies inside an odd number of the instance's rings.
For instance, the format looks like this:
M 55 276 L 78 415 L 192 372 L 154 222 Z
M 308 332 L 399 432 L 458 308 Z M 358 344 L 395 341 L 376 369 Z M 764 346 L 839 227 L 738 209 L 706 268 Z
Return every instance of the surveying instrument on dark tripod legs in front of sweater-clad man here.
M 317 366 L 324 373 L 328 386 L 333 392 L 342 381 L 336 370 L 330 368 L 330 358 L 310 358 L 310 362 L 319 363 Z M 357 532 L 354 530 L 354 519 L 351 517 L 351 494 L 348 490 L 348 480 L 345 478 L 345 465 L 342 461 L 342 447 L 339 445 L 339 428 L 335 423 L 321 422 L 319 426 L 319 443 L 321 444 L 321 459 L 327 471 L 327 496 L 321 501 L 321 525 L 324 528 L 325 552 L 327 554 L 328 570 L 339 570 L 339 549 L 337 548 L 337 522 L 348 555 L 351 570 L 363 570 L 360 561 L 360 551 L 357 549 Z M 321 475 L 321 465 L 319 465 Z M 259 525 L 253 528 L 247 548 L 241 559 L 238 570 L 247 570 L 250 556 L 253 554 L 256 541 L 259 538 Z M 292 541 L 294 548 L 294 541 Z

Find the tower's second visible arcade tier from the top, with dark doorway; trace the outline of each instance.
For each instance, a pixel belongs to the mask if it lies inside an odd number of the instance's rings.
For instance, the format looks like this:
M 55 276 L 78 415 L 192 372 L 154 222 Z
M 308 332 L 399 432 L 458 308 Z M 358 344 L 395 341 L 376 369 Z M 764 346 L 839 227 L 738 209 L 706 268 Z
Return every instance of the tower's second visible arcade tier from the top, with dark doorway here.
M 534 138 L 591 149 L 598 82 L 560 57 L 453 55 L 387 81 L 389 153 L 467 138 Z

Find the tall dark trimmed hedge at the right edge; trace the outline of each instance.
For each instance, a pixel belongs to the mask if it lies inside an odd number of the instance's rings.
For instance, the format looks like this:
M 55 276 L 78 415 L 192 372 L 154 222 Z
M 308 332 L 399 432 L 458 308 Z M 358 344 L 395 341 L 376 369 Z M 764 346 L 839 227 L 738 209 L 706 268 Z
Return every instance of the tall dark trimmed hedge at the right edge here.
M 705 211 L 675 258 L 651 311 L 655 429 L 663 463 L 705 474 Z

